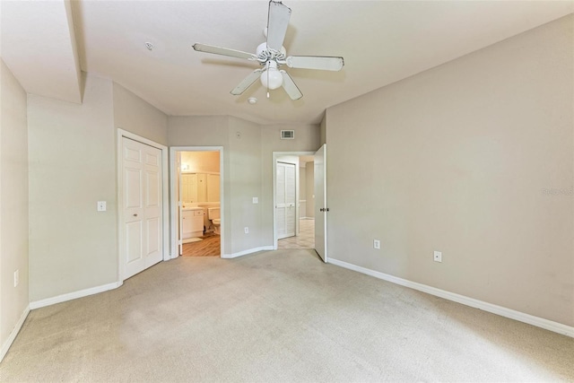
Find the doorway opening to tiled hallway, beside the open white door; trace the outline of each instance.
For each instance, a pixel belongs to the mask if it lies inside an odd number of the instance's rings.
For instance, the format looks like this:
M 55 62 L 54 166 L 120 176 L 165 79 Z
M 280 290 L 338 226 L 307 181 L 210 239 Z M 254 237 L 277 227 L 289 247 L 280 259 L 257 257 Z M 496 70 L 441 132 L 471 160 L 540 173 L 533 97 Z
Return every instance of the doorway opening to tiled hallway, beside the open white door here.
M 294 170 L 294 197 L 291 192 Z M 315 248 L 315 182 L 313 152 L 274 153 L 275 248 Z M 288 230 L 294 221 L 294 230 Z

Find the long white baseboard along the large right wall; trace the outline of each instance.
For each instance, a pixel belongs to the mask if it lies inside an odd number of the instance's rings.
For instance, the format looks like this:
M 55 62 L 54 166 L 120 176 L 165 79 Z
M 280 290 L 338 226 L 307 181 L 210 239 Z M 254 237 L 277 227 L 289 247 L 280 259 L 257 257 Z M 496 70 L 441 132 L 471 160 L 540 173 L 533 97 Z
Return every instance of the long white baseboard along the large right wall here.
M 385 280 L 387 282 L 400 284 L 405 287 L 410 287 L 411 289 L 418 290 L 419 292 L 426 292 L 431 295 L 435 295 L 446 300 L 453 300 L 457 303 L 462 303 L 466 306 L 473 307 L 474 309 L 482 309 L 483 311 L 491 312 L 492 314 L 500 315 L 501 317 L 510 318 L 517 320 L 519 322 L 527 323 L 528 325 L 537 326 L 550 330 L 554 333 L 568 335 L 574 337 L 574 327 L 566 326 L 552 320 L 535 317 L 534 315 L 526 314 L 514 309 L 507 309 L 502 306 L 497 306 L 483 300 L 475 300 L 474 298 L 466 297 L 465 295 L 460 295 L 454 292 L 447 292 L 445 290 L 437 289 L 436 287 L 431 287 L 426 284 L 412 282 L 403 278 L 398 278 L 396 276 L 380 273 L 378 271 L 370 270 L 365 267 L 358 265 L 352 265 L 344 261 L 339 261 L 337 259 L 329 258 L 328 262 L 333 265 L 338 265 L 349 270 L 357 271 L 362 274 L 367 274 L 374 276 L 375 278 Z

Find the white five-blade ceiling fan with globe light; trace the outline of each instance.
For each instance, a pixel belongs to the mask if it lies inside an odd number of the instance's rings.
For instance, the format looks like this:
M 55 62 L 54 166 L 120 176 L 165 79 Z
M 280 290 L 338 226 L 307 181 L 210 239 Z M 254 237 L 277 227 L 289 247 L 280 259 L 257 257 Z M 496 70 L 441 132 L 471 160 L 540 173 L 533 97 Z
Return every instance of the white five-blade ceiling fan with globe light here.
M 283 39 L 287 32 L 289 19 L 291 17 L 291 8 L 284 5 L 281 1 L 271 0 L 269 2 L 269 13 L 267 17 L 267 28 L 265 37 L 267 40 L 257 47 L 257 53 L 248 53 L 240 50 L 215 47 L 206 44 L 194 44 L 194 49 L 198 52 L 213 53 L 228 57 L 245 58 L 251 61 L 257 61 L 261 68 L 256 69 L 249 74 L 238 86 L 230 91 L 231 94 L 239 96 L 248 89 L 257 79 L 267 89 L 267 98 L 269 91 L 283 86 L 291 100 L 299 100 L 303 97 L 297 85 L 293 82 L 291 76 L 283 69 L 281 65 L 287 65 L 290 68 L 300 69 L 318 69 L 326 71 L 339 71 L 343 68 L 343 57 L 324 57 L 324 56 L 289 56 L 283 47 Z

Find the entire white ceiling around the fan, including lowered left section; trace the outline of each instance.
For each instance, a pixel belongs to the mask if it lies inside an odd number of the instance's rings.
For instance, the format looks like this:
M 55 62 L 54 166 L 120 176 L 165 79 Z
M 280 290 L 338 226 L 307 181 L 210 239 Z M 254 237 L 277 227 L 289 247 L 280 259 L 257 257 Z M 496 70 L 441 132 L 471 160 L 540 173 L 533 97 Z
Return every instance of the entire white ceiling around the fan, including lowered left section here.
M 230 95 L 257 64 L 192 48 L 202 42 L 255 53 L 265 39 L 266 0 L 78 0 L 75 36 L 67 1 L 1 3 L 2 57 L 28 92 L 74 101 L 68 83 L 78 84 L 77 48 L 83 71 L 122 84 L 168 115 L 262 124 L 317 123 L 330 106 L 574 12 L 574 1 L 284 0 L 292 10 L 288 55 L 345 62 L 341 72 L 283 68 L 303 93 L 292 101 L 282 89 L 267 100 L 258 82 Z

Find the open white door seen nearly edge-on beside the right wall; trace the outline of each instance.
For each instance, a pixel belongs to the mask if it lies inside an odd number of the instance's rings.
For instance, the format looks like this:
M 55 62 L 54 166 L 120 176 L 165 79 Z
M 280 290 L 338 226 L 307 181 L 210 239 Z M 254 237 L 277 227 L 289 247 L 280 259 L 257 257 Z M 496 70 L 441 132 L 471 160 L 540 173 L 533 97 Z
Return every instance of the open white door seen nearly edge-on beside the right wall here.
M 326 252 L 326 144 L 315 153 L 315 250 L 324 262 Z

